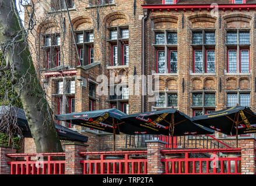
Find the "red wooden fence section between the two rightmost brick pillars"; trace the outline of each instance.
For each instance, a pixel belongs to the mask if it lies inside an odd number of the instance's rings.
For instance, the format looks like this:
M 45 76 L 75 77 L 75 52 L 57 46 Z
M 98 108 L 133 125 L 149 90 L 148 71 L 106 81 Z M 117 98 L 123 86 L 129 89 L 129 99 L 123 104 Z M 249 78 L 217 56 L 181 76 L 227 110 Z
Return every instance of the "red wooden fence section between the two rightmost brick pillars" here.
M 173 156 L 173 158 L 167 156 L 162 159 L 165 166 L 164 174 L 241 174 L 241 156 L 237 158 L 220 156 L 220 152 L 240 153 L 240 148 L 163 150 L 161 152 Z M 204 153 L 204 155 L 208 153 L 212 157 L 190 158 L 192 153 Z M 179 155 L 181 158 L 178 157 Z

